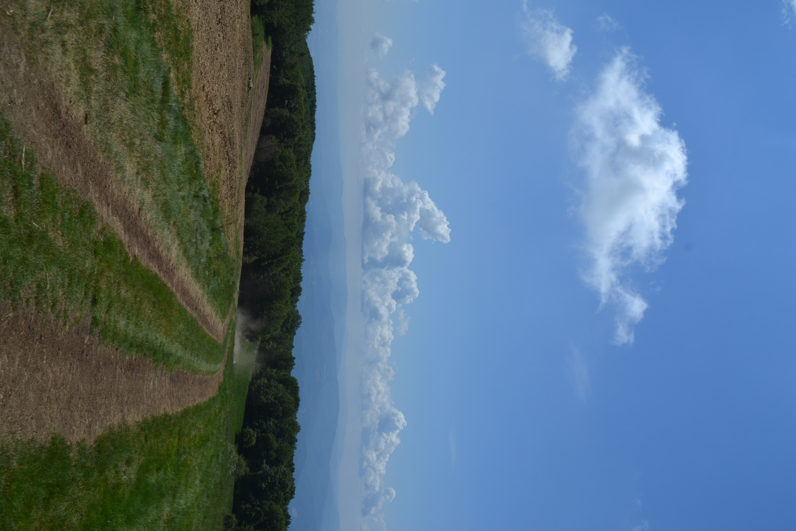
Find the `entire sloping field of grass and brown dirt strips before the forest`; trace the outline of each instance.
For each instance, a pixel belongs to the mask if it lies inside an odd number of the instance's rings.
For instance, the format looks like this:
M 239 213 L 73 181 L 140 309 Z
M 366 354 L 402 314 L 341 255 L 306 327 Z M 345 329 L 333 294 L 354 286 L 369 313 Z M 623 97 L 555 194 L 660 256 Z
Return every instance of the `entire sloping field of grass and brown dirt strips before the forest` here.
M 218 529 L 230 510 L 270 61 L 237 0 L 0 12 L 0 528 Z

